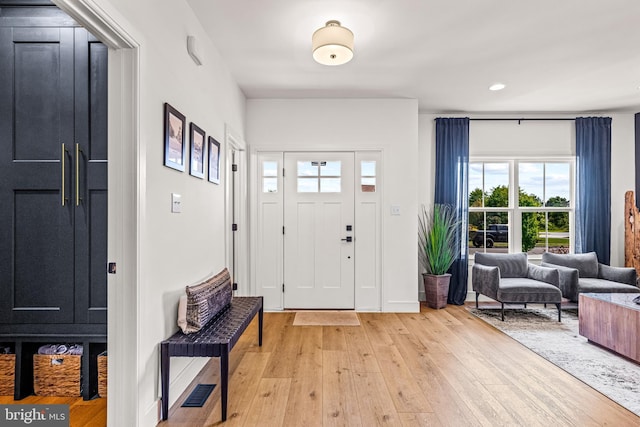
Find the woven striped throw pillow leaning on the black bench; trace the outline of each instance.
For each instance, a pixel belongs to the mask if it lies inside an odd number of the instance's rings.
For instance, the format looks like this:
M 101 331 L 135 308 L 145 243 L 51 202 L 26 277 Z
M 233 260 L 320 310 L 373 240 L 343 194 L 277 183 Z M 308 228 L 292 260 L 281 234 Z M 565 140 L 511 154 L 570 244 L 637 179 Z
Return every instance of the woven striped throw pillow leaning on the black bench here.
M 186 287 L 186 310 L 178 307 L 178 326 L 185 334 L 198 332 L 231 302 L 233 296 L 228 269 L 194 286 Z M 181 304 L 185 298 L 181 298 Z M 180 314 L 185 313 L 185 318 Z

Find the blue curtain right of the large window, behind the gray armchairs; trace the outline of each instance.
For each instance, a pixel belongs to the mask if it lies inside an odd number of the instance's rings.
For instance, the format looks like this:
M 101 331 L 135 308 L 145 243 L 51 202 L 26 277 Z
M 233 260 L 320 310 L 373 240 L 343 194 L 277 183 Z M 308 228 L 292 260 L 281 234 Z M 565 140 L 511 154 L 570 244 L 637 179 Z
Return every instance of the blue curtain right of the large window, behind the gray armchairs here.
M 576 118 L 576 253 L 611 249 L 611 118 Z

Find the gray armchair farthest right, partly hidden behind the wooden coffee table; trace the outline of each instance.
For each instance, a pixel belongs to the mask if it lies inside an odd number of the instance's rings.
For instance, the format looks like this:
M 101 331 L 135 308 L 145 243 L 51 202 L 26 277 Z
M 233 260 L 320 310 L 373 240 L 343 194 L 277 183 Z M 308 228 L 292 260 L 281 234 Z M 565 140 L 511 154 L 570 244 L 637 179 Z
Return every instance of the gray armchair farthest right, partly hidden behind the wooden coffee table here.
M 542 254 L 542 266 L 557 268 L 562 295 L 578 302 L 582 292 L 638 293 L 636 270 L 630 267 L 611 267 L 598 262 L 595 252 L 586 254 Z

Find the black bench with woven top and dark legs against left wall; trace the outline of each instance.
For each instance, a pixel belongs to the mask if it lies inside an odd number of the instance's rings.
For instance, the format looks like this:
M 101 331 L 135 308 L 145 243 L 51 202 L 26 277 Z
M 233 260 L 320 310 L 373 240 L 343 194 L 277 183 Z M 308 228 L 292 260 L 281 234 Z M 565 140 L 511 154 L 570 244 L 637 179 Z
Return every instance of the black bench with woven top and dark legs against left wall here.
M 262 297 L 234 297 L 220 313 L 193 334 L 176 332 L 160 344 L 162 419 L 169 417 L 169 365 L 175 357 L 219 357 L 222 421 L 227 419 L 229 353 L 258 314 L 258 344 L 262 345 Z

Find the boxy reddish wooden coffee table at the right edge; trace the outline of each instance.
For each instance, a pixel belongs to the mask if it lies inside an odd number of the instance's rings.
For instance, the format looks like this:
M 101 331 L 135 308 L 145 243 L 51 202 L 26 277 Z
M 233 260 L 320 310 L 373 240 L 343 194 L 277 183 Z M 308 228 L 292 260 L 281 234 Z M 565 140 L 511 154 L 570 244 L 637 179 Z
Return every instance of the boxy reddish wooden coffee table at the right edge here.
M 638 295 L 580 294 L 580 335 L 640 363 L 640 305 L 633 302 Z

